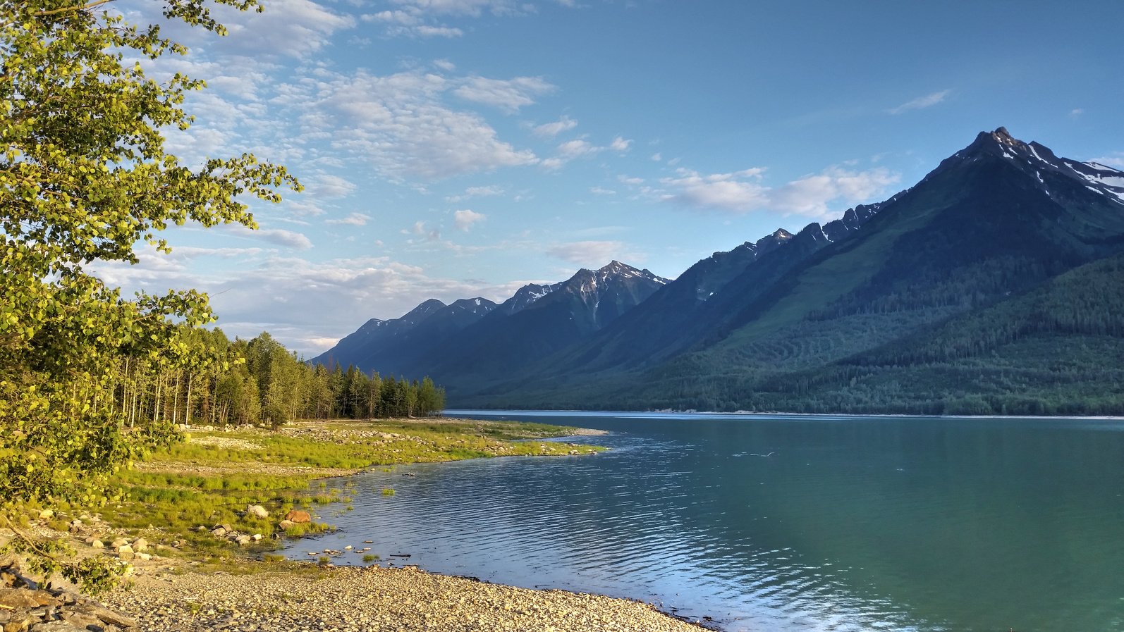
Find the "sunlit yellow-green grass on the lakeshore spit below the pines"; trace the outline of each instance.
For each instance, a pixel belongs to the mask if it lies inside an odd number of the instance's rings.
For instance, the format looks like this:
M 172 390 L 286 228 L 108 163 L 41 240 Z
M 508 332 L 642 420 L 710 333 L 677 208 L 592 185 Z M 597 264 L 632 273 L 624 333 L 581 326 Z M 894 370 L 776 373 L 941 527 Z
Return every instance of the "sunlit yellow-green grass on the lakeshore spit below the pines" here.
M 153 543 L 187 543 L 161 555 L 203 561 L 260 557 L 280 544 L 279 537 L 299 538 L 334 529 L 323 522 L 298 523 L 283 532 L 278 522 L 290 510 L 316 516 L 317 507 L 344 502 L 351 511 L 354 484 L 344 492 L 327 489 L 318 476 L 326 468 L 359 471 L 371 467 L 391 469 L 395 464 L 432 462 L 518 455 L 583 454 L 601 448 L 572 447 L 511 439 L 561 437 L 572 431 L 547 424 L 515 422 L 405 421 L 324 422 L 293 424 L 297 436 L 269 431 L 202 432 L 149 457 L 144 470 L 123 471 L 116 477 L 125 498 L 102 507 L 102 517 L 130 535 L 143 534 Z M 329 433 L 330 432 L 330 433 Z M 236 439 L 250 449 L 219 448 L 207 438 Z M 201 441 L 200 441 L 201 440 Z M 256 467 L 255 467 L 256 466 Z M 294 468 L 271 474 L 270 466 Z M 274 468 L 275 469 L 275 468 Z M 302 470 L 307 470 L 302 471 Z M 383 489 L 392 495 L 393 489 Z M 263 505 L 270 517 L 244 515 L 246 506 Z M 71 507 L 80 511 L 78 507 Z M 64 522 L 64 521 L 63 521 Z M 216 524 L 229 524 L 260 542 L 238 547 L 210 534 Z M 61 522 L 65 530 L 65 524 Z M 205 526 L 199 531 L 199 526 Z

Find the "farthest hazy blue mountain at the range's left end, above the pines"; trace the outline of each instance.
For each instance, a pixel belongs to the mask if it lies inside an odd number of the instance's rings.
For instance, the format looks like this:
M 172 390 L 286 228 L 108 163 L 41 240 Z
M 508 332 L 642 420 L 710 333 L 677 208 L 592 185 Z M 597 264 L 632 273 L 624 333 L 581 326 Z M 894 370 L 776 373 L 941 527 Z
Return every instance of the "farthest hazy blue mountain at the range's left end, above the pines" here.
M 311 364 L 354 365 L 384 375 L 401 375 L 408 358 L 430 352 L 496 309 L 488 299 L 461 299 L 446 305 L 436 299 L 422 302 L 401 318 L 371 319 L 335 347 L 312 358 Z

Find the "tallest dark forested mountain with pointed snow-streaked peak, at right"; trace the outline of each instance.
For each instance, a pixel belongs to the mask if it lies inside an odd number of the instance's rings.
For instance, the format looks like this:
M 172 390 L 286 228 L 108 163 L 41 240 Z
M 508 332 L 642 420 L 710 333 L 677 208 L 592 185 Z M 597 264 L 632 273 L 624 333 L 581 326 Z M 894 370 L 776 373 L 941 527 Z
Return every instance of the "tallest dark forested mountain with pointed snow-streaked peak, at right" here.
M 776 257 L 768 272 L 769 257 L 762 256 L 709 296 L 709 311 L 681 329 L 686 341 L 670 345 L 682 352 L 652 352 L 659 361 L 649 365 L 606 360 L 628 357 L 614 351 L 606 330 L 596 338 L 604 351 L 563 351 L 517 381 L 475 395 L 459 392 L 454 404 L 932 413 L 1120 409 L 1118 390 L 1107 387 L 1120 366 L 1118 331 L 1041 323 L 1084 322 L 1076 314 L 1115 309 L 1124 285 L 1113 264 L 1124 250 L 1121 172 L 1058 158 L 1000 128 L 981 132 L 882 203 L 860 230 L 828 240 L 814 227 L 801 235 L 806 244 L 821 238 L 819 247 Z M 798 244 L 788 241 L 772 255 Z M 1080 293 L 1085 285 L 1102 290 Z M 1072 318 L 1046 318 L 1043 304 L 1057 306 L 1079 294 L 1082 302 L 1069 308 Z M 632 341 L 620 347 L 645 340 L 638 331 L 645 328 L 624 323 L 638 321 L 646 308 L 613 328 L 627 329 L 616 340 Z M 952 333 L 969 324 L 980 341 L 966 347 L 964 337 Z M 1018 333 L 982 345 L 991 339 L 988 331 Z M 922 352 L 946 340 L 975 350 L 904 360 L 915 347 Z M 1024 377 L 1012 378 L 1021 364 Z M 970 375 L 986 367 L 1003 377 Z M 1078 374 L 1084 377 L 1073 382 Z M 1091 396 L 1077 384 L 1107 391 Z

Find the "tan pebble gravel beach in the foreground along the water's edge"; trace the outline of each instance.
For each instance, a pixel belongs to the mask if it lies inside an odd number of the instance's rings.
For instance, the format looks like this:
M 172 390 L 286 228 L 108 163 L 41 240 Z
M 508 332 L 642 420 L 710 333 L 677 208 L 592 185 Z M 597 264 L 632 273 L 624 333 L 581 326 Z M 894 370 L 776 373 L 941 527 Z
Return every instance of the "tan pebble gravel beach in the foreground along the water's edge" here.
M 699 632 L 640 602 L 413 567 L 146 575 L 105 603 L 144 632 Z

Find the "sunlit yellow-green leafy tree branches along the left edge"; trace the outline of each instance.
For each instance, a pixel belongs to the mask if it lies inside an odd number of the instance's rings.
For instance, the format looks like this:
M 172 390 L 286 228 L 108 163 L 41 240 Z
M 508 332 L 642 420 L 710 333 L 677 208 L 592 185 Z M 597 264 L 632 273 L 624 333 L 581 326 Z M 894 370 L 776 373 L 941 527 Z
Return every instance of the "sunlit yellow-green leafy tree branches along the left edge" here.
M 205 295 L 125 300 L 90 264 L 136 263 L 139 241 L 167 251 L 158 233 L 170 223 L 253 228 L 241 195 L 278 201 L 279 187 L 300 187 L 250 154 L 198 168 L 167 154 L 161 130 L 190 126 L 180 104 L 203 83 L 126 65 L 184 48 L 106 2 L 0 2 L 2 504 L 108 500 L 115 469 L 174 437 L 165 418 L 127 415 L 123 382 L 215 361 L 188 341 L 212 320 Z M 205 1 L 165 0 L 164 16 L 225 33 Z

